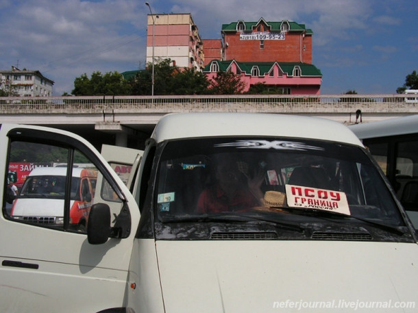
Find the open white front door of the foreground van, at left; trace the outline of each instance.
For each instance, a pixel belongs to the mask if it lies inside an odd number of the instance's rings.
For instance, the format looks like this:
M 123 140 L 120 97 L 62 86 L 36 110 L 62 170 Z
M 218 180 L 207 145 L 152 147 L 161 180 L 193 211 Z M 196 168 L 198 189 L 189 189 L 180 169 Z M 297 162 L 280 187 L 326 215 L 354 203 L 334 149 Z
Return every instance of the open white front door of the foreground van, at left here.
M 123 307 L 139 210 L 106 160 L 83 138 L 45 127 L 1 125 L 0 151 L 4 164 L 0 166 L 0 312 L 99 312 Z M 33 168 L 58 164 L 66 167 L 64 193 L 43 192 L 42 197 L 60 197 L 63 201 L 57 202 L 61 204 L 56 211 L 62 214 L 12 215 L 16 196 L 10 190 L 17 189 L 19 197 L 19 188 Z M 118 238 L 103 245 L 90 245 L 86 228 L 71 223 L 71 199 L 81 184 L 73 173 L 80 166 L 102 177 L 91 190 L 95 195 L 89 197 L 89 205 L 106 203 L 112 208 L 112 225 L 128 229 L 112 232 Z M 30 201 L 28 197 L 28 212 L 34 210 Z

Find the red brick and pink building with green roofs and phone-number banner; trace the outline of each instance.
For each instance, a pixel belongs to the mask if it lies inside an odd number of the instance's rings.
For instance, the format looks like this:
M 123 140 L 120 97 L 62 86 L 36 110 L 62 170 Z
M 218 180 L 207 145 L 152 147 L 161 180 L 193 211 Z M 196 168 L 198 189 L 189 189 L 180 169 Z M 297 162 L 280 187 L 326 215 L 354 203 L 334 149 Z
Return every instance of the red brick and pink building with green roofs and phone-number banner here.
M 246 89 L 255 84 L 291 95 L 319 95 L 322 74 L 312 64 L 312 30 L 292 21 L 238 21 L 222 25 L 222 57 L 206 60 L 204 73 L 243 76 Z

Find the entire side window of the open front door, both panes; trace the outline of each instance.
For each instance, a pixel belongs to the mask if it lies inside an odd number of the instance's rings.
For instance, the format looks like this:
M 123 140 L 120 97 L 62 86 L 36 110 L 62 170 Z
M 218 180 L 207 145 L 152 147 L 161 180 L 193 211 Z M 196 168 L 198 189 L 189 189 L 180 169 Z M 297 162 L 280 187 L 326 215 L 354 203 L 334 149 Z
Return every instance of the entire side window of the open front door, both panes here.
M 112 213 L 119 214 L 121 200 L 84 153 L 14 140 L 8 151 L 3 215 L 19 223 L 86 234 L 90 208 L 106 201 L 96 195 L 98 177 L 108 186 Z

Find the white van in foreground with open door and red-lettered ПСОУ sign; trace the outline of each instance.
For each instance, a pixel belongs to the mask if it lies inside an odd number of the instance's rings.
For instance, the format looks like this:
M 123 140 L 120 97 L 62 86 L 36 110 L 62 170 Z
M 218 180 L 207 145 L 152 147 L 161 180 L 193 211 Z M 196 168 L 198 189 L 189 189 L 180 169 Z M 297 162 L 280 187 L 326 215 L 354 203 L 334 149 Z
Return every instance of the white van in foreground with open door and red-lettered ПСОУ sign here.
M 16 125 L 0 136 L 13 156 L 2 153 L 4 164 L 49 142 L 99 171 L 87 234 L 65 226 L 68 213 L 58 230 L 3 210 L 0 235 L 12 238 L 0 248 L 3 312 L 417 310 L 415 230 L 339 123 L 164 116 L 132 171 L 132 194 L 78 136 Z

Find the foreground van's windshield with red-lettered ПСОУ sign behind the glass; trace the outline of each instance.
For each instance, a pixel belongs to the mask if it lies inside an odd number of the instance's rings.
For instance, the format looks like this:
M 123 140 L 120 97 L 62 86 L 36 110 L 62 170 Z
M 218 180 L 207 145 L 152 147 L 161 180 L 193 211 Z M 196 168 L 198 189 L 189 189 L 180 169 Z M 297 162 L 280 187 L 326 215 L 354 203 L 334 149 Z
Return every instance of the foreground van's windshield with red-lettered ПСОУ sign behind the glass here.
M 156 190 L 163 224 L 253 218 L 300 227 L 343 216 L 344 222 L 405 225 L 367 154 L 335 142 L 176 140 L 162 151 Z

